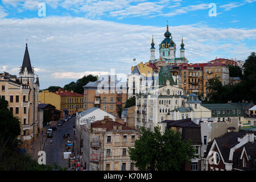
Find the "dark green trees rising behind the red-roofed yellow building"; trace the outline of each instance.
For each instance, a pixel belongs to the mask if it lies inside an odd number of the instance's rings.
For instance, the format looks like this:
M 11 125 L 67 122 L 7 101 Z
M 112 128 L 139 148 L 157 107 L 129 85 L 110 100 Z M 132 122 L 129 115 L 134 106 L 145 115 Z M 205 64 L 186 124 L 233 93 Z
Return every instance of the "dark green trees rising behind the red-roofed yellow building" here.
M 76 82 L 72 81 L 71 83 L 64 86 L 64 90 L 71 91 L 75 93 L 84 94 L 84 88 L 82 86 L 88 84 L 89 81 L 97 81 L 98 77 L 93 75 L 88 75 L 80 78 Z

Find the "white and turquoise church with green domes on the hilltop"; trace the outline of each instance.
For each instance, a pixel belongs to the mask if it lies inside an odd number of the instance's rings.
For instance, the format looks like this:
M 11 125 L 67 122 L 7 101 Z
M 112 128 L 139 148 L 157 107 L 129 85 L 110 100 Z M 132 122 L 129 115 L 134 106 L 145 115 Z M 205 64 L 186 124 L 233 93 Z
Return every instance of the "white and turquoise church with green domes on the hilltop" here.
M 166 32 L 164 33 L 164 40 L 159 44 L 159 59 L 155 59 L 155 43 L 152 39 L 151 43 L 151 57 L 150 62 L 156 63 L 158 61 L 166 61 L 167 64 L 181 64 L 188 63 L 187 58 L 185 58 L 185 44 L 183 38 L 180 44 L 180 57 L 176 57 L 176 44 L 172 39 L 172 33 L 169 31 L 167 24 Z

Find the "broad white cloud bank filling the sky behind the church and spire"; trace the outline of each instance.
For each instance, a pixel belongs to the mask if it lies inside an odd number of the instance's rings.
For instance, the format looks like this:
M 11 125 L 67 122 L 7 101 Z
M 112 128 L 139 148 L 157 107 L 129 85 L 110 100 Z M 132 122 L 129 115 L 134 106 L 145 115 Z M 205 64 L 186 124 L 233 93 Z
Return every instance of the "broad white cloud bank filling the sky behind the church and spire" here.
M 185 56 L 191 62 L 209 61 L 217 55 L 244 60 L 256 47 L 244 42 L 256 39 L 256 29 L 211 28 L 200 24 L 170 26 L 179 57 L 181 36 Z M 155 57 L 166 27 L 130 25 L 105 20 L 72 17 L 43 19 L 0 19 L 0 63 L 18 74 L 22 65 L 26 37 L 32 67 L 43 88 L 54 78 L 79 78 L 86 72 L 130 73 L 133 59 L 150 59 L 151 36 L 154 34 Z M 0 67 L 1 68 L 1 67 Z M 7 68 L 6 68 L 7 69 Z M 64 81 L 63 81 L 64 82 Z M 65 84 L 68 84 L 66 82 Z

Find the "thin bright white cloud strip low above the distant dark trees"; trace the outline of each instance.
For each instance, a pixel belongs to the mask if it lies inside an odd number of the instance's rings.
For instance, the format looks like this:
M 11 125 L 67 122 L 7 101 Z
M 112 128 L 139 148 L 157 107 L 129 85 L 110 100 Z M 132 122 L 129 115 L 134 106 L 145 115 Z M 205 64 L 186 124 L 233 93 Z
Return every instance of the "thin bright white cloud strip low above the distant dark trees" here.
M 53 78 L 69 78 L 69 79 L 79 79 L 82 78 L 83 76 L 87 76 L 87 75 L 93 75 L 93 76 L 100 76 L 100 75 L 109 75 L 109 72 L 80 72 L 80 73 L 76 73 L 76 72 L 64 72 L 64 73 L 53 73 L 51 76 Z

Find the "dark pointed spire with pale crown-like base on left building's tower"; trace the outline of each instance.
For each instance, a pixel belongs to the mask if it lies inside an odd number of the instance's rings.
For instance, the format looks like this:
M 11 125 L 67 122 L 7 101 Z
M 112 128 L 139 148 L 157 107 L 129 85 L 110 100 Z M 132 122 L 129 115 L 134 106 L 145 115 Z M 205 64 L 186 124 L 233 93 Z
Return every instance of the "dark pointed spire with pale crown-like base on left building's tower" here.
M 31 67 L 30 54 L 28 53 L 27 43 L 26 43 L 26 49 L 23 57 L 22 67 L 20 67 L 20 71 L 19 71 L 19 80 L 20 82 L 23 82 L 24 84 L 27 84 L 27 85 L 29 85 L 30 83 L 33 83 L 35 80 L 34 67 Z

